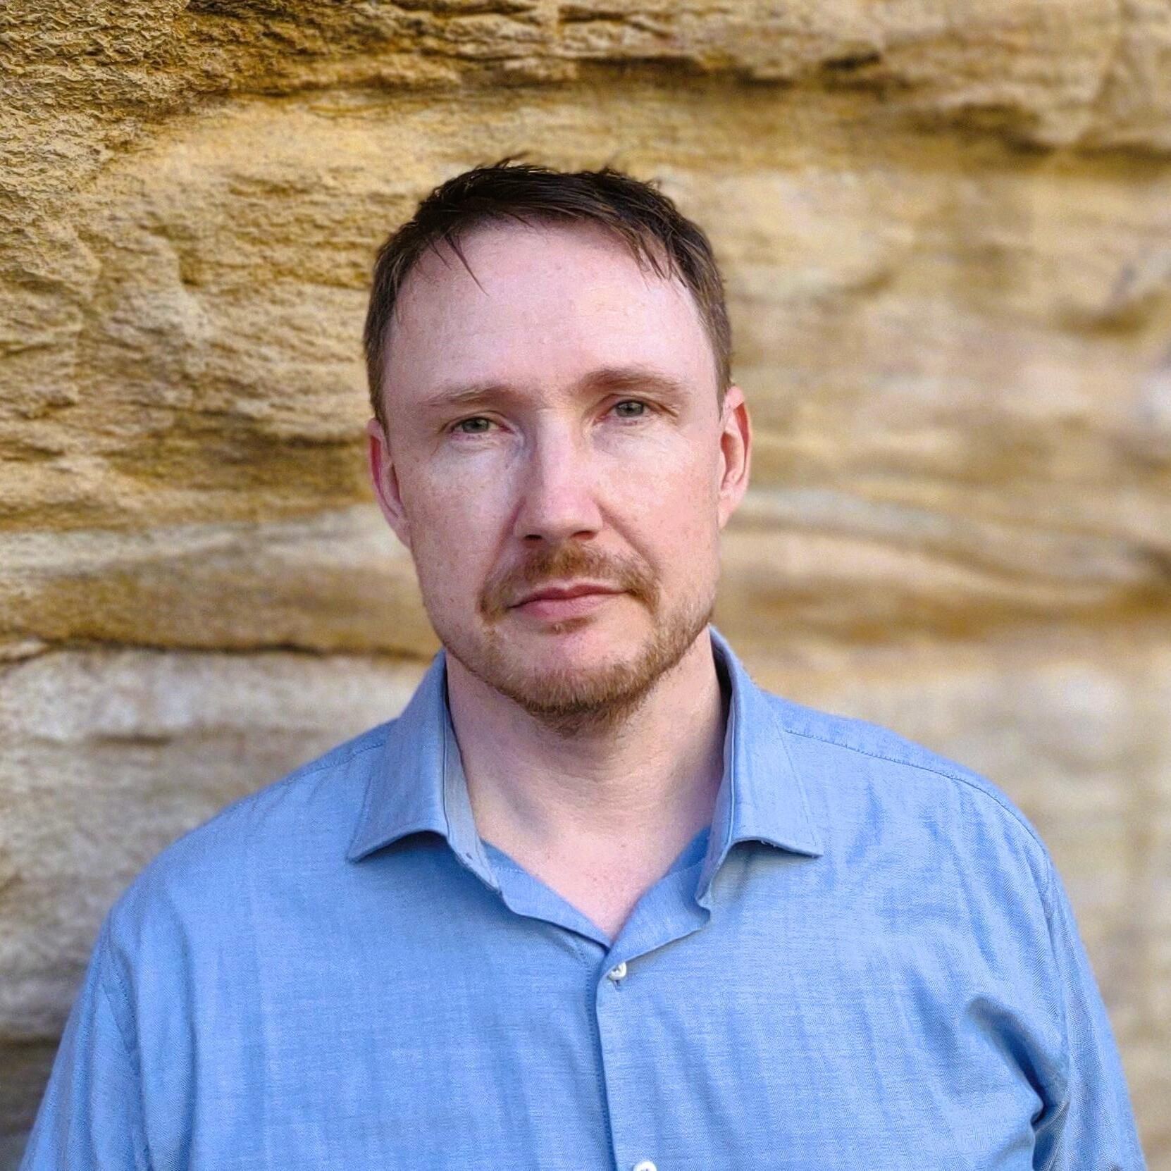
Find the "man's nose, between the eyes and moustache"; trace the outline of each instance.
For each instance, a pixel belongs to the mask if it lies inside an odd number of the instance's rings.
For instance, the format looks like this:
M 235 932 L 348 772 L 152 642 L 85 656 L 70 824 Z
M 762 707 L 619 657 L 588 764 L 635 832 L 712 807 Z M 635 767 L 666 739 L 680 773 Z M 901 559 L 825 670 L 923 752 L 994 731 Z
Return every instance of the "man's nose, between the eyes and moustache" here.
M 514 534 L 526 543 L 588 540 L 602 527 L 596 467 L 581 438 L 553 426 L 535 433 L 522 457 Z

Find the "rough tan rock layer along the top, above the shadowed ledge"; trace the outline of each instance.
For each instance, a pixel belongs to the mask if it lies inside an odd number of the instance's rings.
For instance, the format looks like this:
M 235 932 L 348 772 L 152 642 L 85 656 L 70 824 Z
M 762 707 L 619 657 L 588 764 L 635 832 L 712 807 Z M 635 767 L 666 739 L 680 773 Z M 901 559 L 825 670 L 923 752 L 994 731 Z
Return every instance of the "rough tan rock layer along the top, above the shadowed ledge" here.
M 0 37 L 13 93 L 39 100 L 28 108 L 107 117 L 224 93 L 563 82 L 583 63 L 662 62 L 861 90 L 1043 145 L 1169 143 L 1159 0 L 22 0 L 0 15 Z

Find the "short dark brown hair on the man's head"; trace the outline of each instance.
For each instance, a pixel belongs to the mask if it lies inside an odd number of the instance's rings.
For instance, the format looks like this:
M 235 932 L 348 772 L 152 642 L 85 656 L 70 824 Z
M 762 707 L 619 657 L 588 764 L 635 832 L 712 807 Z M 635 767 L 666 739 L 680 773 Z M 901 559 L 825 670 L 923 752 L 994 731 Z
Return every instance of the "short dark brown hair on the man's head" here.
M 399 290 L 429 249 L 446 244 L 467 267 L 460 239 L 482 224 L 578 221 L 598 224 L 628 245 L 635 259 L 664 279 L 678 276 L 691 290 L 704 322 L 720 398 L 732 381 L 732 330 L 724 281 L 703 230 L 652 184 L 611 170 L 555 171 L 502 159 L 477 166 L 436 187 L 415 217 L 378 249 L 367 311 L 367 378 L 370 405 L 385 429 L 382 376 L 388 334 Z M 468 268 L 471 272 L 471 268 Z

